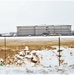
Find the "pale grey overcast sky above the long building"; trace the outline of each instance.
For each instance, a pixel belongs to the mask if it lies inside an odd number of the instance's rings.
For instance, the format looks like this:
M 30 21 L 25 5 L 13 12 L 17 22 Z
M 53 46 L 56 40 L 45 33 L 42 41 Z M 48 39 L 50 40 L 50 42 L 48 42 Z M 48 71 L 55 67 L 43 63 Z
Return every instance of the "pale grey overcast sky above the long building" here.
M 74 1 L 0 1 L 0 33 L 41 24 L 72 24 L 74 30 Z

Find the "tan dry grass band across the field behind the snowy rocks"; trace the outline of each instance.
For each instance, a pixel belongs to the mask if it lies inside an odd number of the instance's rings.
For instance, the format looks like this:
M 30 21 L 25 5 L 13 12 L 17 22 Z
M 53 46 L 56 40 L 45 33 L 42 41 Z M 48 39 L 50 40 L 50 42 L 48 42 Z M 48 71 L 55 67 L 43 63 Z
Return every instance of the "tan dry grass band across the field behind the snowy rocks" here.
M 6 58 L 8 60 L 8 56 L 10 58 L 13 58 L 15 54 L 17 54 L 19 51 L 25 48 L 25 46 L 29 47 L 29 50 L 44 50 L 44 49 L 52 49 L 54 50 L 52 46 L 58 46 L 59 43 L 58 41 L 53 41 L 53 40 L 47 40 L 47 41 L 25 41 L 25 40 L 7 40 L 6 42 Z M 61 41 L 61 46 L 68 46 L 70 48 L 74 48 L 74 40 L 70 41 Z M 4 41 L 0 39 L 0 58 L 5 59 L 5 49 L 3 49 L 4 46 Z M 64 61 L 61 60 L 61 63 Z

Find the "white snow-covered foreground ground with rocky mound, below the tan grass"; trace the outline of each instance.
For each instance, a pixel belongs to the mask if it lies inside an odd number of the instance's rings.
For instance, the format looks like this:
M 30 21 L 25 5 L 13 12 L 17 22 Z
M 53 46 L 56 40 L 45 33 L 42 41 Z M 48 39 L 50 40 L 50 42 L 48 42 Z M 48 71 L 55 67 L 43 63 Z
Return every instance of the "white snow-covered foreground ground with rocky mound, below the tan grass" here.
M 61 47 L 61 50 L 61 66 L 57 56 L 58 47 L 55 50 L 33 50 L 25 56 L 22 50 L 14 56 L 15 61 L 22 65 L 0 66 L 0 74 L 74 74 L 74 48 Z M 36 63 L 31 60 L 32 57 Z

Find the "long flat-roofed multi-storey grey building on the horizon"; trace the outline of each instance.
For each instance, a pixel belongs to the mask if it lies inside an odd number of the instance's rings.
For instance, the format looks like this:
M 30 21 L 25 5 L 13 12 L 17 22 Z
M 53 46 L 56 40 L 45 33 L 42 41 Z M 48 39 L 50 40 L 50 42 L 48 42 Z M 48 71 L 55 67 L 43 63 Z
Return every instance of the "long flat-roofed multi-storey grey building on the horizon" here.
M 17 26 L 17 36 L 70 35 L 71 25 Z

